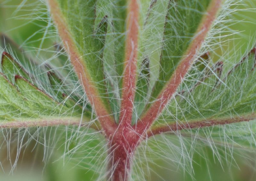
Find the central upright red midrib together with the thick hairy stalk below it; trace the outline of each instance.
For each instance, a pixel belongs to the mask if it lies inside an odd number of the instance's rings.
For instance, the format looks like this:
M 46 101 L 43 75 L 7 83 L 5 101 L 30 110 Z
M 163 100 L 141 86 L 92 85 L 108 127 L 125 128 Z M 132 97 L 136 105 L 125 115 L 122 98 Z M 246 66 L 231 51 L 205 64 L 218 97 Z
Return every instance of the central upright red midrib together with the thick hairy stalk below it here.
M 109 174 L 114 181 L 129 180 L 133 152 L 139 144 L 138 134 L 131 129 L 133 100 L 135 95 L 138 34 L 139 34 L 139 4 L 130 0 L 128 5 L 127 36 L 125 45 L 124 78 L 122 90 L 121 112 L 119 126 L 109 138 Z

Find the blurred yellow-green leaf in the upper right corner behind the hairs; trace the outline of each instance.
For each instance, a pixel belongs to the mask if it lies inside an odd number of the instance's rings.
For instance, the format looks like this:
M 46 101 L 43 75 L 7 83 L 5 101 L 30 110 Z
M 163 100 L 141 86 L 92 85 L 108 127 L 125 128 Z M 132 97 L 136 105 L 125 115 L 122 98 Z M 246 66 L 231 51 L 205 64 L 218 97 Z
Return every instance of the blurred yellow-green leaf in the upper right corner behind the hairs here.
M 209 43 L 210 58 L 214 63 L 224 62 L 222 78 L 238 63 L 252 47 L 256 37 L 256 2 L 251 0 L 234 1 L 214 29 L 214 40 Z M 225 11 L 225 10 L 224 10 Z

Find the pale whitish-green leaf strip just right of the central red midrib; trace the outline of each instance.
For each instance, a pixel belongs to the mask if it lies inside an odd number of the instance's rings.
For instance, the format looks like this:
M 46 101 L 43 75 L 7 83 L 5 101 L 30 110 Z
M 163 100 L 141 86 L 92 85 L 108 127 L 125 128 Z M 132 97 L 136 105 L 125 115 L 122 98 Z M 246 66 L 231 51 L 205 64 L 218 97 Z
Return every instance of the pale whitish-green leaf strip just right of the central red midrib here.
M 150 8 L 143 18 L 139 39 L 138 80 L 134 98 L 132 124 L 140 117 L 148 103 L 149 95 L 159 75 L 159 61 L 164 35 L 164 24 L 168 10 L 168 0 L 151 1 Z

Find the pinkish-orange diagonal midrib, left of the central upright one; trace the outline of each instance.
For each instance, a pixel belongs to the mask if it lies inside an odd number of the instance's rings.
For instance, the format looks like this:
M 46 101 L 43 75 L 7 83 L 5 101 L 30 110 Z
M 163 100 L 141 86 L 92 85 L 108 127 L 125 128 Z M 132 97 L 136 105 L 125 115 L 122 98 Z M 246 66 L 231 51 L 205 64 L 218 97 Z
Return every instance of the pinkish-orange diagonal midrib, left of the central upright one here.
M 58 2 L 56 0 L 48 0 L 48 4 L 51 10 L 52 19 L 58 28 L 59 35 L 64 42 L 64 46 L 68 52 L 68 55 L 70 56 L 70 61 L 75 67 L 76 74 L 84 87 L 87 98 L 93 105 L 96 114 L 99 117 L 99 122 L 105 133 L 110 136 L 117 128 L 116 122 L 104 105 L 98 90 L 95 88 L 95 85 L 91 80 L 91 76 L 87 72 L 87 67 L 83 63 L 83 59 L 81 58 L 82 56 L 80 55 L 76 47 L 76 43 L 74 42 L 74 39 L 69 32 L 67 23 L 63 18 L 64 16 L 60 10 Z

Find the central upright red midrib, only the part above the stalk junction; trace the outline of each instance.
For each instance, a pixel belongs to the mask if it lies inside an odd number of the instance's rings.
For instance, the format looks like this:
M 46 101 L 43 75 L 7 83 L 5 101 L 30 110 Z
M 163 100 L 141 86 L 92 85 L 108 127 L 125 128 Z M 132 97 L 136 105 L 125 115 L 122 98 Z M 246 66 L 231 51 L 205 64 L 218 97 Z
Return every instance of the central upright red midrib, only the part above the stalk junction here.
M 127 36 L 125 45 L 124 78 L 122 103 L 119 123 L 120 127 L 131 125 L 133 100 L 135 95 L 138 34 L 139 34 L 139 4 L 131 0 L 128 6 Z

